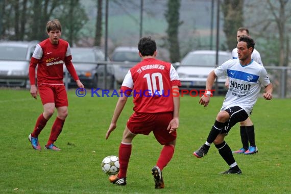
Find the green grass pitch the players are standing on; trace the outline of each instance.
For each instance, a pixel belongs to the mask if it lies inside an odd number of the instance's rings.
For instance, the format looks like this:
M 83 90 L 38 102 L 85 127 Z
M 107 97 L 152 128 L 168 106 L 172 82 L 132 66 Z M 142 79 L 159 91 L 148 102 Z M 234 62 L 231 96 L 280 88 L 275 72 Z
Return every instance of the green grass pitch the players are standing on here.
M 161 146 L 154 136 L 139 135 L 133 140 L 127 185 L 110 184 L 101 170 L 105 156 L 118 156 L 118 147 L 132 111 L 129 99 L 117 129 L 108 140 L 105 134 L 117 98 L 78 98 L 68 92 L 69 115 L 56 145 L 61 152 L 35 151 L 28 141 L 38 115 L 40 99 L 28 90 L 1 89 L 2 147 L 0 193 L 290 193 L 290 99 L 265 101 L 260 98 L 251 116 L 256 131 L 255 155 L 235 155 L 242 175 L 219 175 L 228 169 L 212 145 L 204 158 L 192 155 L 206 140 L 223 97 L 213 97 L 209 107 L 199 98 L 181 98 L 180 127 L 176 151 L 163 170 L 165 188 L 157 190 L 151 175 Z M 47 141 L 56 112 L 39 136 Z M 229 146 L 241 147 L 239 127 L 226 137 Z

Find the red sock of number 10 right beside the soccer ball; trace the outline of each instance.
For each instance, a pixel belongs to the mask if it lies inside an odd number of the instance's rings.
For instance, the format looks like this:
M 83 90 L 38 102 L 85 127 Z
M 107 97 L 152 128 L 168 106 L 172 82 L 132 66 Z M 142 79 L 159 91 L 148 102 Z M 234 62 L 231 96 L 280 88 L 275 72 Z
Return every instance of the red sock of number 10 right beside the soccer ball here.
M 131 155 L 131 144 L 120 143 L 119 146 L 119 174 L 118 178 L 126 178 L 127 167 Z

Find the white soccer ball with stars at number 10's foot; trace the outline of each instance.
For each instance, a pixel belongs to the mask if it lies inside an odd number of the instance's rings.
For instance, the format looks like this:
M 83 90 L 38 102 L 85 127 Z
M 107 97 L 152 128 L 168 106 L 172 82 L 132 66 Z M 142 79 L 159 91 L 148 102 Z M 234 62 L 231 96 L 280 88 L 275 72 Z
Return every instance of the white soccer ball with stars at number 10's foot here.
M 119 172 L 119 161 L 117 156 L 107 156 L 101 163 L 102 171 L 107 175 L 116 175 Z

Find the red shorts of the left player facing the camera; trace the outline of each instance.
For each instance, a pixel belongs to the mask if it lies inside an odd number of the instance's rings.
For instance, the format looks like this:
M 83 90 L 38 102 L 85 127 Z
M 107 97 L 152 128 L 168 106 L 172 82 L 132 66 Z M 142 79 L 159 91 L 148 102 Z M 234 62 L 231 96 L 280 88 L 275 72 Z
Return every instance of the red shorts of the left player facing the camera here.
M 68 106 L 68 97 L 64 85 L 41 84 L 38 86 L 38 92 L 42 105 L 55 103 L 56 107 Z

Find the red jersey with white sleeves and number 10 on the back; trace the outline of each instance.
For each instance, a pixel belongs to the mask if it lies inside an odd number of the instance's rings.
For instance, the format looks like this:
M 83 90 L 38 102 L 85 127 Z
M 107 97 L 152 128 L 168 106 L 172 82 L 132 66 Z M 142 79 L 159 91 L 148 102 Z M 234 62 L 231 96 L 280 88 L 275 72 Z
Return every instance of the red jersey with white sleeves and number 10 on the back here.
M 135 112 L 173 112 L 173 86 L 181 86 L 173 65 L 148 58 L 128 71 L 120 91 L 123 95 L 133 95 Z

